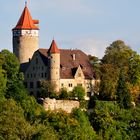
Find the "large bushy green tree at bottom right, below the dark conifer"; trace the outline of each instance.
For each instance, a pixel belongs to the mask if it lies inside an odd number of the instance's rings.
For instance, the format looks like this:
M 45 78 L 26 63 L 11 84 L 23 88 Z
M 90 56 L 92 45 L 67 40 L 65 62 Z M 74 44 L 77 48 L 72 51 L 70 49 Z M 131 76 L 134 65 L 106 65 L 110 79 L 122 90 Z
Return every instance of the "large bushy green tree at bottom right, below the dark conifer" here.
M 130 111 L 120 109 L 115 102 L 97 101 L 93 113 L 90 114 L 90 122 L 104 140 L 131 139 L 131 117 Z

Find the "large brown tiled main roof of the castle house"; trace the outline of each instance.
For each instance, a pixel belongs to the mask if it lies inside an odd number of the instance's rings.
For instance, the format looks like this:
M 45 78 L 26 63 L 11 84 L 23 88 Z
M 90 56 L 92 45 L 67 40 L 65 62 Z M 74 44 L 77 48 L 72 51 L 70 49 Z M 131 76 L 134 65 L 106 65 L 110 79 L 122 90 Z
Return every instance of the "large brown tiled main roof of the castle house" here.
M 49 50 L 39 49 L 38 50 L 44 61 L 46 61 Z M 75 60 L 73 59 L 73 54 L 75 55 Z M 93 78 L 93 70 L 90 64 L 88 56 L 81 50 L 66 50 L 60 49 L 60 77 L 61 79 L 73 79 L 74 70 L 81 66 L 84 76 L 86 79 Z

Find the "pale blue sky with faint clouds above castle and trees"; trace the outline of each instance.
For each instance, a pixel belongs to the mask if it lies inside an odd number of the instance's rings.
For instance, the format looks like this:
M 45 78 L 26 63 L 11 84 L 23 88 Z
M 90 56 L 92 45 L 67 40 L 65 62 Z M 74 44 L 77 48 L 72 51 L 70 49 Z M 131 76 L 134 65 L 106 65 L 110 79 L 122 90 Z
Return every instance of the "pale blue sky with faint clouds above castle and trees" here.
M 140 0 L 28 0 L 39 23 L 39 48 L 52 39 L 60 49 L 81 49 L 102 58 L 106 47 L 123 40 L 140 53 Z M 12 28 L 25 0 L 0 1 L 0 50 L 12 51 Z

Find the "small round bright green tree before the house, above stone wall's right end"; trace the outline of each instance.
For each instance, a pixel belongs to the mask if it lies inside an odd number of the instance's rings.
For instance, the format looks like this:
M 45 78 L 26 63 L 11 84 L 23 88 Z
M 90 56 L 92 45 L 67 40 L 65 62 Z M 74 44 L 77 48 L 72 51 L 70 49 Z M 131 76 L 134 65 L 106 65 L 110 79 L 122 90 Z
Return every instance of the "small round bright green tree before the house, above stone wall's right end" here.
M 72 91 L 72 96 L 78 98 L 78 100 L 83 100 L 85 96 L 85 90 L 82 86 L 74 87 Z

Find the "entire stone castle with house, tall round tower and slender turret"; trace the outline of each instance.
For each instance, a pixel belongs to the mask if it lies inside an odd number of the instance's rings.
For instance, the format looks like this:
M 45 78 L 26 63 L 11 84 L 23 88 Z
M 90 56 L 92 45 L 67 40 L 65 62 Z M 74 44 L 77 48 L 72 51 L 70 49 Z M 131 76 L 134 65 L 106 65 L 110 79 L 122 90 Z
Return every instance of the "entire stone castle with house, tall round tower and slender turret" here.
M 54 39 L 48 49 L 39 49 L 38 24 L 39 20 L 32 19 L 26 3 L 12 29 L 13 53 L 19 59 L 30 94 L 39 97 L 42 80 L 55 83 L 58 92 L 62 88 L 72 91 L 79 85 L 91 94 L 96 80 L 88 56 L 77 49 L 59 49 Z

